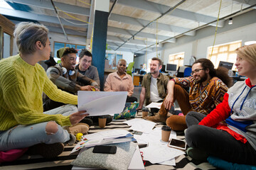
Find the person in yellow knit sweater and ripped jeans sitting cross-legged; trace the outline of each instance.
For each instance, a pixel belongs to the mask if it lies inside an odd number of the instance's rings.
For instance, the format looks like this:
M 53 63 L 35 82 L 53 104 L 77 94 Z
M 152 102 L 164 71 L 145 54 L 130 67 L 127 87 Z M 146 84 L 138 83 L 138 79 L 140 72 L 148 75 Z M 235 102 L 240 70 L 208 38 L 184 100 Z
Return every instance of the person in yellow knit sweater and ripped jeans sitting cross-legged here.
M 88 114 L 78 112 L 78 96 L 58 89 L 38 64 L 50 57 L 48 29 L 19 23 L 14 37 L 19 55 L 0 61 L 0 151 L 33 146 L 43 157 L 56 157 L 63 152 L 63 143 L 74 141 L 63 127 L 76 125 Z M 43 113 L 43 92 L 70 105 Z M 88 130 L 86 125 L 76 126 Z

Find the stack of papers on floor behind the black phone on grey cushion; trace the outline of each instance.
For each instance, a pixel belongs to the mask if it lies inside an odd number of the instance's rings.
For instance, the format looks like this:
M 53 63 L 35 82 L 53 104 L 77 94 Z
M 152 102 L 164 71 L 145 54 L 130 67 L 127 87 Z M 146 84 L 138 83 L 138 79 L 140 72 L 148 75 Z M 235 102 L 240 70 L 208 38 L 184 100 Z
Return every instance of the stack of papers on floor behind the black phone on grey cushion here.
M 77 152 L 83 147 L 94 147 L 95 145 L 107 145 L 112 143 L 131 142 L 133 135 L 127 130 L 105 130 L 101 132 L 84 135 L 82 140 L 70 152 Z

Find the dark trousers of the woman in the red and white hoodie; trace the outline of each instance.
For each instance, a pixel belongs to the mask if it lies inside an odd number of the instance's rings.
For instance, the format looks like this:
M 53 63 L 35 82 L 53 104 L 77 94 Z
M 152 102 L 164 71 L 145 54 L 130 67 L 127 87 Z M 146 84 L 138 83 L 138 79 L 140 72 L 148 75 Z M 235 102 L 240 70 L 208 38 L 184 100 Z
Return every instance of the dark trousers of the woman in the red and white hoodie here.
M 228 162 L 256 165 L 256 151 L 249 142 L 244 144 L 224 130 L 198 125 L 204 117 L 202 115 L 196 112 L 186 115 L 188 129 L 185 137 L 189 147 L 201 149 L 209 156 Z

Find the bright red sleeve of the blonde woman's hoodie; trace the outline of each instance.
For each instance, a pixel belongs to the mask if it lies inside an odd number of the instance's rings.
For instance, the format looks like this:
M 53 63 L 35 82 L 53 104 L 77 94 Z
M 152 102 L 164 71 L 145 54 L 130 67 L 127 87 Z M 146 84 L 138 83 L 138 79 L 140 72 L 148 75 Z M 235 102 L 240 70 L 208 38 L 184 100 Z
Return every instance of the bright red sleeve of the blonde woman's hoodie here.
M 216 106 L 216 108 L 211 111 L 206 118 L 203 118 L 198 125 L 212 127 L 230 116 L 231 109 L 228 105 L 228 93 L 225 93 L 223 98 L 223 102 L 218 104 L 218 106 Z

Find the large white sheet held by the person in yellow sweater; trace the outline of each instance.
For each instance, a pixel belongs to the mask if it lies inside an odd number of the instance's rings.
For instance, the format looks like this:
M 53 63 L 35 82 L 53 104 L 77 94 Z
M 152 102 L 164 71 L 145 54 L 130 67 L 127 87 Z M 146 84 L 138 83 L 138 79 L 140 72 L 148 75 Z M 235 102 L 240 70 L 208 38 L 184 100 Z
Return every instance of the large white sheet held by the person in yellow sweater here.
M 90 116 L 114 115 L 124 110 L 127 91 L 78 91 L 78 111 Z

